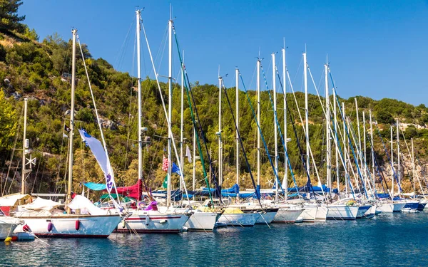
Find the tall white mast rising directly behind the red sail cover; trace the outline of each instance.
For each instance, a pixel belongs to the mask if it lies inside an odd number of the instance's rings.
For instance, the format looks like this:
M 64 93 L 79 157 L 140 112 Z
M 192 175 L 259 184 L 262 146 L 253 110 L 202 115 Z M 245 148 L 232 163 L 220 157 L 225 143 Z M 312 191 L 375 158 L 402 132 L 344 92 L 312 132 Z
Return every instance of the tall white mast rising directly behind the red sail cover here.
M 142 108 L 141 108 L 141 43 L 140 43 L 140 32 L 141 32 L 141 11 L 136 11 L 137 19 L 137 83 L 138 83 L 138 180 L 141 180 L 143 173 L 143 140 L 141 139 L 141 120 L 143 119 Z

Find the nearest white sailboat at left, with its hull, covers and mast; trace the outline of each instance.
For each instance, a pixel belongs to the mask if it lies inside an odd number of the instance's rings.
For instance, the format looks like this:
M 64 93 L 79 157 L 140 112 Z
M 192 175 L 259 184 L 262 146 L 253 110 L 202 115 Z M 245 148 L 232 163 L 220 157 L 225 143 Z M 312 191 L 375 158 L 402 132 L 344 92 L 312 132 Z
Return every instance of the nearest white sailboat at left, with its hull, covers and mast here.
M 25 226 L 17 228 L 15 232 L 31 231 L 36 236 L 42 237 L 106 238 L 113 232 L 119 221 L 121 221 L 121 215 L 111 214 L 110 211 L 99 209 L 94 206 L 91 201 L 86 199 L 86 197 L 72 197 L 71 195 L 73 179 L 74 88 L 76 83 L 76 28 L 72 30 L 72 33 L 71 131 L 68 136 L 69 155 L 66 211 L 59 209 L 63 207 L 63 204 L 55 201 L 41 198 L 32 200 L 29 195 L 25 194 L 24 181 L 21 186 L 21 194 L 2 197 L 0 202 L 11 199 L 9 206 L 10 214 L 25 221 Z M 24 130 L 23 157 L 26 155 L 26 143 Z M 25 158 L 23 160 L 25 160 Z M 25 164 L 23 168 L 24 171 L 22 173 L 24 180 Z M 106 179 L 111 178 L 107 176 Z M 26 202 L 28 204 L 24 204 L 24 199 L 27 199 Z

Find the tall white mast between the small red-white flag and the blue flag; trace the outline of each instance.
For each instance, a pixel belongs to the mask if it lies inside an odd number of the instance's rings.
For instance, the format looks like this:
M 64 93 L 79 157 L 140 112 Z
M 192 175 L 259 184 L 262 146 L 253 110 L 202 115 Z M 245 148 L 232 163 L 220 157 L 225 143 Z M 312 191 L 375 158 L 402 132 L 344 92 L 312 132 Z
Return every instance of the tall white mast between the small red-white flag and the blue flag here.
M 171 12 L 172 13 L 172 12 Z M 170 13 L 170 20 L 168 21 L 168 120 L 171 123 L 172 111 L 173 111 L 173 19 Z M 170 125 L 168 125 L 170 126 Z M 168 182 L 167 182 L 167 199 L 166 206 L 170 206 L 171 203 L 171 142 L 172 142 L 171 131 L 168 131 Z

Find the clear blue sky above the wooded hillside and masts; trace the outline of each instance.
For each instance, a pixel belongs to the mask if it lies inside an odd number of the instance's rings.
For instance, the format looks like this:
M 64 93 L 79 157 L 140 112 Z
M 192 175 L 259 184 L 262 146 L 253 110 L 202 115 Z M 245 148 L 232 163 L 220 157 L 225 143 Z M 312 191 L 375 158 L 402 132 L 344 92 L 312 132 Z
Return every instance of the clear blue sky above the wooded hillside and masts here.
M 78 28 L 94 58 L 105 58 L 118 70 L 136 75 L 133 60 L 135 9 L 144 7 L 144 25 L 161 75 L 167 74 L 165 31 L 173 5 L 180 48 L 190 80 L 218 83 L 218 66 L 227 87 L 235 85 L 235 66 L 248 88 L 255 87 L 260 52 L 271 86 L 270 54 L 287 46 L 287 68 L 295 90 L 302 90 L 302 52 L 317 85 L 328 53 L 338 93 L 396 98 L 428 105 L 428 1 L 31 1 L 19 9 L 41 40 L 58 32 L 64 39 Z M 131 29 L 131 30 L 130 30 Z M 143 77 L 151 63 L 145 43 Z M 165 50 L 164 50 L 165 48 Z M 164 53 L 162 53 L 162 51 Z M 178 59 L 174 59 L 178 77 Z M 253 80 L 253 82 L 252 82 Z M 311 84 L 311 83 L 308 83 Z M 322 85 L 322 83 L 320 83 Z M 264 87 L 263 87 L 264 88 Z M 313 86 L 310 93 L 315 93 Z

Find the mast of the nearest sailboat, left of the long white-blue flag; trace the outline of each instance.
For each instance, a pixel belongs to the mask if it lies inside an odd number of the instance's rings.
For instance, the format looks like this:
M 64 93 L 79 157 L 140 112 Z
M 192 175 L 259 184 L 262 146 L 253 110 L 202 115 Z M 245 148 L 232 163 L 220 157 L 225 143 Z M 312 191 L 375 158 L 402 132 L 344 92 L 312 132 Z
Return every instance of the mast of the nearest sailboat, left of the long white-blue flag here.
M 73 33 L 73 55 L 71 56 L 71 106 L 70 106 L 70 132 L 68 133 L 68 187 L 67 203 L 71 201 L 71 187 L 73 187 L 73 130 L 74 130 L 74 89 L 76 88 L 76 34 L 77 29 L 71 30 Z M 67 208 L 70 214 L 70 208 Z

